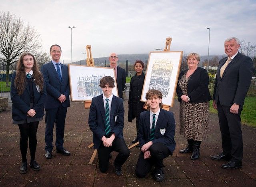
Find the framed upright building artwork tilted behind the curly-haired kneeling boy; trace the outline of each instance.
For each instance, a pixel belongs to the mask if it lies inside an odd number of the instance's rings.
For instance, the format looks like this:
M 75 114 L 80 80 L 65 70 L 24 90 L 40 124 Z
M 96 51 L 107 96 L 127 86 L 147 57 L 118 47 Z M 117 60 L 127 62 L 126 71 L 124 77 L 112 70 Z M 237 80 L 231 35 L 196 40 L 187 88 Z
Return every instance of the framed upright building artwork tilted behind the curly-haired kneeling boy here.
M 150 52 L 140 100 L 146 101 L 148 90 L 155 89 L 162 92 L 162 103 L 172 107 L 181 61 L 182 51 Z

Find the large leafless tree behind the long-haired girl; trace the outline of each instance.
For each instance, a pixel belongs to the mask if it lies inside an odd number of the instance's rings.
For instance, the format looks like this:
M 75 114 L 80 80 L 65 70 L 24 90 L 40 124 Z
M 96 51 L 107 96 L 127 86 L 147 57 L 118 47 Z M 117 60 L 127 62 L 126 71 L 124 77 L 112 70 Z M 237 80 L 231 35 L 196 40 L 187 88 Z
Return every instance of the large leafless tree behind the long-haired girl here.
M 40 39 L 36 30 L 29 25 L 24 26 L 21 18 L 0 12 L 0 62 L 6 66 L 6 86 L 9 84 L 10 64 L 23 52 L 32 52 L 40 48 Z

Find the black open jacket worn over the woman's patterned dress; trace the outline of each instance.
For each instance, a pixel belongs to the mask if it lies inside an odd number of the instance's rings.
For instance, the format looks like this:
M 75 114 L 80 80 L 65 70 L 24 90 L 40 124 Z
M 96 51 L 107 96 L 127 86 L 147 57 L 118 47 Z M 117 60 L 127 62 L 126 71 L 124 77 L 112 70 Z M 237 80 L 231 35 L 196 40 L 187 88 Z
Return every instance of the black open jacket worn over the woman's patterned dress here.
M 182 76 L 188 71 L 184 70 L 180 72 L 178 82 L 182 78 Z M 210 101 L 211 95 L 209 92 L 209 76 L 205 69 L 203 68 L 196 68 L 195 72 L 191 75 L 190 79 L 188 80 L 188 97 L 190 98 L 190 103 L 203 103 L 206 101 Z M 178 101 L 181 102 L 182 99 L 180 98 L 184 95 L 177 85 L 176 89 L 178 95 Z

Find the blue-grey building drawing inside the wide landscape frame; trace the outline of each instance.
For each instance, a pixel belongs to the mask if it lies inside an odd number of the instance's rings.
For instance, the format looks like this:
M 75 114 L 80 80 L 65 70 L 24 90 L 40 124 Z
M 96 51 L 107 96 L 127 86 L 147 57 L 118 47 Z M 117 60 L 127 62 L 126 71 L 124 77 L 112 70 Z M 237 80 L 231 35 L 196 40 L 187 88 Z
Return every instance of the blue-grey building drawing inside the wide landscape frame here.
M 105 75 L 104 75 L 105 76 Z M 96 97 L 102 94 L 102 89 L 100 88 L 100 79 L 104 77 L 102 75 L 94 76 L 82 76 L 78 77 L 77 81 L 77 91 L 78 97 Z

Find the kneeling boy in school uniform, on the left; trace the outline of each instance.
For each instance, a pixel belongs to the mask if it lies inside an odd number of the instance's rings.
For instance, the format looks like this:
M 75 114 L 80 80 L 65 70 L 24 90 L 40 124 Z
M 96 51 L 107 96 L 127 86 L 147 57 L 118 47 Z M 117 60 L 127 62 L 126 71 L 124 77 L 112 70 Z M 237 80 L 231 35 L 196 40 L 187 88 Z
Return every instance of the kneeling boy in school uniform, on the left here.
M 108 170 L 109 155 L 116 151 L 115 174 L 122 175 L 122 165 L 128 159 L 130 150 L 123 137 L 123 99 L 112 94 L 114 84 L 114 78 L 110 76 L 100 80 L 103 94 L 92 98 L 88 123 L 93 133 L 94 149 L 98 151 L 100 171 L 104 173 Z

